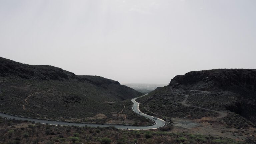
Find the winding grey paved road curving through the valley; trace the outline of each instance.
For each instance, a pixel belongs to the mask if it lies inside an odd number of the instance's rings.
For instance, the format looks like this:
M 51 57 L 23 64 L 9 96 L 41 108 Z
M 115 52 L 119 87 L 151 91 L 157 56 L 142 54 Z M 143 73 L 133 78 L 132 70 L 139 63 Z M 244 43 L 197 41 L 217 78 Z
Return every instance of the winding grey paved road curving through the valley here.
M 147 94 L 146 94 L 147 95 Z M 143 95 L 145 96 L 145 95 Z M 140 96 L 142 97 L 142 96 Z M 139 98 L 139 97 L 137 97 Z M 139 103 L 136 102 L 135 100 L 137 98 L 133 98 L 131 101 L 133 102 L 133 106 L 132 106 L 132 109 L 135 113 L 139 114 Z M 68 125 L 68 126 L 89 126 L 89 127 L 109 127 L 109 126 L 114 126 L 118 129 L 156 129 L 156 128 L 160 128 L 162 126 L 165 125 L 164 121 L 161 120 L 161 119 L 153 119 L 152 116 L 149 116 L 149 115 L 146 115 L 144 113 L 140 113 L 140 115 L 146 117 L 146 118 L 149 118 L 153 121 L 156 122 L 155 125 L 152 125 L 152 126 L 126 126 L 126 125 L 116 125 L 116 124 L 86 124 L 86 123 L 72 123 L 72 122 L 64 122 L 64 121 L 58 121 L 58 120 L 42 120 L 42 119 L 36 119 L 36 118 L 25 118 L 25 117 L 18 117 L 18 116 L 12 116 L 12 115 L 8 115 L 8 114 L 4 114 L 4 113 L 0 113 L 0 117 L 6 117 L 6 118 L 9 118 L 9 119 L 18 119 L 18 120 L 28 120 L 28 121 L 34 121 L 36 123 L 42 123 L 42 124 L 50 124 L 50 125 L 62 125 L 62 126 L 65 126 L 65 125 Z

